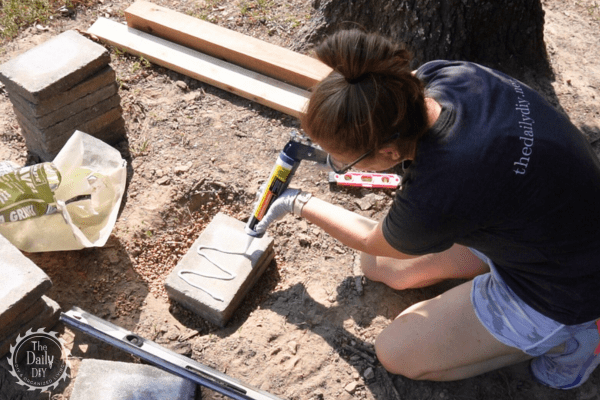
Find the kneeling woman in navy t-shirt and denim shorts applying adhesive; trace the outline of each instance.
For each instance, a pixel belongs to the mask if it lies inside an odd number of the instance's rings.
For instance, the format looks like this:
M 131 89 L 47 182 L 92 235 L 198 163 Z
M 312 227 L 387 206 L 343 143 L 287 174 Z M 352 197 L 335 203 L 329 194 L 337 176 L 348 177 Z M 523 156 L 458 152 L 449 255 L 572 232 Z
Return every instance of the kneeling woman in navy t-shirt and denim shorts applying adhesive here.
M 582 384 L 600 362 L 600 164 L 583 135 L 525 84 L 477 64 L 412 72 L 400 46 L 355 30 L 317 56 L 333 72 L 302 126 L 333 169 L 410 166 L 382 221 L 288 189 L 257 229 L 301 215 L 395 289 L 473 278 L 380 334 L 392 373 L 456 380 L 532 359 L 541 383 Z

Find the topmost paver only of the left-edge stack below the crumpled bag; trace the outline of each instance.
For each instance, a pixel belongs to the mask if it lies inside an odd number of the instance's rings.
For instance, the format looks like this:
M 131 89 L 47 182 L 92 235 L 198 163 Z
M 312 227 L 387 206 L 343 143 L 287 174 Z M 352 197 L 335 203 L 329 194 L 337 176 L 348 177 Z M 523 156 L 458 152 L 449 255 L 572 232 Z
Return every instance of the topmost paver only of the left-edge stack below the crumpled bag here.
M 0 254 L 0 326 L 23 323 L 22 314 L 50 289 L 52 281 L 2 235 Z

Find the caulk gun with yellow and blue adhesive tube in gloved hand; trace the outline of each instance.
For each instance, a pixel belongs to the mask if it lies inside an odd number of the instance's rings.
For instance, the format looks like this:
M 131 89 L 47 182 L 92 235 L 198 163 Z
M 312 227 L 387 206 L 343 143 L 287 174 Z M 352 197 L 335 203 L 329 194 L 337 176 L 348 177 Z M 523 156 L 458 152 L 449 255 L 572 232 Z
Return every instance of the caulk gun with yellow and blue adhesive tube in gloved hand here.
M 271 204 L 287 188 L 300 165 L 300 161 L 308 160 L 318 164 L 327 163 L 327 153 L 313 144 L 310 139 L 299 135 L 295 131 L 292 131 L 291 135 L 292 138 L 279 153 L 265 189 L 260 194 L 256 207 L 246 224 L 246 233 L 250 236 L 260 236 L 255 231 L 256 224 L 263 219 Z

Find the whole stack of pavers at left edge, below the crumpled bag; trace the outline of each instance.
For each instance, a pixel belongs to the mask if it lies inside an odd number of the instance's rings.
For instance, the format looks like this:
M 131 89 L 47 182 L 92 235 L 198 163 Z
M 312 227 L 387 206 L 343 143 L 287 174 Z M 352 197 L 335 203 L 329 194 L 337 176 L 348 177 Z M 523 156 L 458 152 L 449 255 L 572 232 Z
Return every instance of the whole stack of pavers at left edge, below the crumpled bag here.
M 29 329 L 50 330 L 60 306 L 44 293 L 52 286 L 44 271 L 0 235 L 0 357 Z

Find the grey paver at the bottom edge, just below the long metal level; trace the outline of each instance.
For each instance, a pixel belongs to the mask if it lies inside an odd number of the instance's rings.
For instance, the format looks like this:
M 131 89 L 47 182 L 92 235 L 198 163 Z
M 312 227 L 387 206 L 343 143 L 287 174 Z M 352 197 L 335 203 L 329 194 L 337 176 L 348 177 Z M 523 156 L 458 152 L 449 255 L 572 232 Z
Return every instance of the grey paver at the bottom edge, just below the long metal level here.
M 194 400 L 196 384 L 145 364 L 84 359 L 70 400 Z

